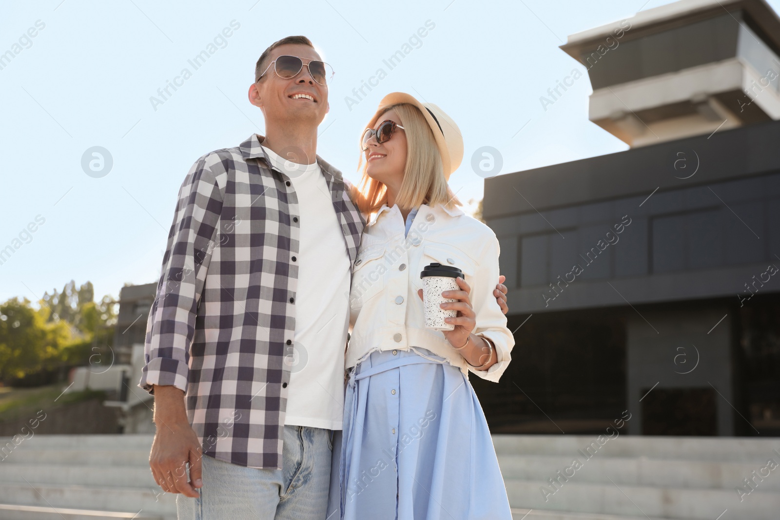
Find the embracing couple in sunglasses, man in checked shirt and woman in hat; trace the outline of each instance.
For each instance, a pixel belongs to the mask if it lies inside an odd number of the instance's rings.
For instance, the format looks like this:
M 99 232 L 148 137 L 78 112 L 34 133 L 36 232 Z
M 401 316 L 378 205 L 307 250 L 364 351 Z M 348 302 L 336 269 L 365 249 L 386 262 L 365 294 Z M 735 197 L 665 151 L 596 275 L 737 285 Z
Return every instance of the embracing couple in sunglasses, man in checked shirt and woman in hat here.
M 468 374 L 498 381 L 514 340 L 498 241 L 447 185 L 459 129 L 389 94 L 352 186 L 316 155 L 331 75 L 306 37 L 271 44 L 249 90 L 267 136 L 179 190 L 140 380 L 154 479 L 179 519 L 509 520 Z M 451 331 L 425 327 L 433 263 L 465 277 Z

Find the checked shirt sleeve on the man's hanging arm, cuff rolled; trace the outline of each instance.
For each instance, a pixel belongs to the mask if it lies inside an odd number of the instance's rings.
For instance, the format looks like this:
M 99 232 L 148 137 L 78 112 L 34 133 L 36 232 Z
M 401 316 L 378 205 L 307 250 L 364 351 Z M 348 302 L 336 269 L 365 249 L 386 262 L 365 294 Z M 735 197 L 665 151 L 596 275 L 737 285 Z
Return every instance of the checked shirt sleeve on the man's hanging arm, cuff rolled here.
M 146 364 L 138 386 L 150 393 L 155 384 L 186 391 L 197 306 L 222 213 L 222 193 L 211 170 L 216 160 L 210 154 L 200 157 L 179 189 L 157 295 L 147 320 Z

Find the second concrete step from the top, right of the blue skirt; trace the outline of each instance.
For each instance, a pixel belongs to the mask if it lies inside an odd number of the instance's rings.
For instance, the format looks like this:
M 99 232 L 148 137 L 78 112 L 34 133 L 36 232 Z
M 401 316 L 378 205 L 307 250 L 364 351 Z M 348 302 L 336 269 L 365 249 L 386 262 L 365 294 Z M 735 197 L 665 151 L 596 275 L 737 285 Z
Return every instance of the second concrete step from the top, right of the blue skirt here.
M 582 465 L 574 469 L 573 460 Z M 775 457 L 780 461 L 780 457 Z M 656 459 L 647 457 L 607 457 L 606 454 L 585 458 L 580 454 L 562 455 L 499 455 L 498 465 L 505 479 L 539 480 L 564 477 L 577 482 L 626 483 L 635 486 L 679 486 L 698 489 L 729 489 L 744 486 L 743 479 L 751 472 L 760 472 L 766 465 L 738 462 L 704 462 Z M 558 475 L 560 472 L 560 475 Z M 573 473 L 573 476 L 572 476 Z M 757 480 L 758 482 L 758 480 Z M 780 491 L 780 479 L 766 478 L 759 483 L 761 491 Z

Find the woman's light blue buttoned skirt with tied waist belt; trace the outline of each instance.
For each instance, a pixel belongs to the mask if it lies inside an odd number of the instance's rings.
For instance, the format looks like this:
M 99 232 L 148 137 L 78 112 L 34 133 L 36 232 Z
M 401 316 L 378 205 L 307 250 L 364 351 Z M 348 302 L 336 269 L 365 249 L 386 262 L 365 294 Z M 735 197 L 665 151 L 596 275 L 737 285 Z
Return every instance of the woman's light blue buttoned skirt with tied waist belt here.
M 416 349 L 422 356 L 373 352 L 350 370 L 344 429 L 333 442 L 328 520 L 511 520 L 468 377 Z

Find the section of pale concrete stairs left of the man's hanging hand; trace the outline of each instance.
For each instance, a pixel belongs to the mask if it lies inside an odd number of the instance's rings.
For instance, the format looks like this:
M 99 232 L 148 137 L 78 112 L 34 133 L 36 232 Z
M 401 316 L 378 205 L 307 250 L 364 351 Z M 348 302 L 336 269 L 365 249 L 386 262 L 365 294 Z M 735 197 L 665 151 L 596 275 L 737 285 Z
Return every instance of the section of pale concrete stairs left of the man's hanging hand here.
M 19 439 L 17 438 L 17 441 Z M 151 435 L 35 435 L 0 462 L 3 520 L 174 520 L 149 469 Z

